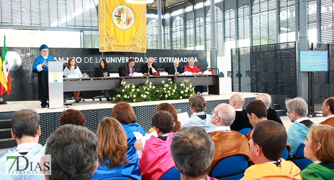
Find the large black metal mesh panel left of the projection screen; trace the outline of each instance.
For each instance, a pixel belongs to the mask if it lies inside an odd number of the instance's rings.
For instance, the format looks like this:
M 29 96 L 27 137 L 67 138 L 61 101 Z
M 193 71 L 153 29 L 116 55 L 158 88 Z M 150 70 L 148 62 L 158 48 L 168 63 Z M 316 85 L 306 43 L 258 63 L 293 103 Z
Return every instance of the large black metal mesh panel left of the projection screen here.
M 296 42 L 232 49 L 232 91 L 296 97 L 296 59 Z

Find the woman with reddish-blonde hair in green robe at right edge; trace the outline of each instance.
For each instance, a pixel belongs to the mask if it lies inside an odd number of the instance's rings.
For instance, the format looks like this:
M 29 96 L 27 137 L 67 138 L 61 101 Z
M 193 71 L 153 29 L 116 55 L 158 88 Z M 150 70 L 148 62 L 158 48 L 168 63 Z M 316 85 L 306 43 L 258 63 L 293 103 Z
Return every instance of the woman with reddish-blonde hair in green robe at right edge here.
M 303 180 L 331 180 L 334 176 L 334 128 L 329 125 L 312 125 L 304 141 L 304 156 L 313 163 L 300 175 Z

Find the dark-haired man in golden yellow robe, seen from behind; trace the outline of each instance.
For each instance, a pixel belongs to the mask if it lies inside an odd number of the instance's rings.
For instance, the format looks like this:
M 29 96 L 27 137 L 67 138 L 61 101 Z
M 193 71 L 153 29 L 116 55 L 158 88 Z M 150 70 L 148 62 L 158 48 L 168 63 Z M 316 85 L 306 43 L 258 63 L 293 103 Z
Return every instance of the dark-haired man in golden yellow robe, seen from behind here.
M 300 169 L 293 162 L 280 158 L 286 142 L 287 133 L 282 124 L 276 121 L 256 123 L 249 140 L 249 158 L 255 165 L 246 169 L 241 180 L 302 180 Z

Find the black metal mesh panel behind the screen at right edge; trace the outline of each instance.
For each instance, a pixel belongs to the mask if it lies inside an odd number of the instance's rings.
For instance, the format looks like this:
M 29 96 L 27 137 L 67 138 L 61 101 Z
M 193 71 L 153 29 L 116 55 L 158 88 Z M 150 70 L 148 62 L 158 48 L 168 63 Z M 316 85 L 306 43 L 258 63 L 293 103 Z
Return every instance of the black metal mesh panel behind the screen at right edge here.
M 328 72 L 309 73 L 309 106 L 310 112 L 321 111 L 322 103 L 328 97 L 334 96 L 334 44 L 310 43 L 309 49 L 314 51 L 329 51 Z M 313 79 L 313 85 L 312 85 Z

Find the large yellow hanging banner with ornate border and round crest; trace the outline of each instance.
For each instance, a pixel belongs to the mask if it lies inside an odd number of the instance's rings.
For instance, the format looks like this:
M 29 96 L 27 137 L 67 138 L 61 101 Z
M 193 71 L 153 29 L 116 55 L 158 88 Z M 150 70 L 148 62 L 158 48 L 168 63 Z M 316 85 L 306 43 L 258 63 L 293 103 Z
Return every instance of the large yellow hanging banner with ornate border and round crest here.
M 146 53 L 146 4 L 99 0 L 100 52 Z

